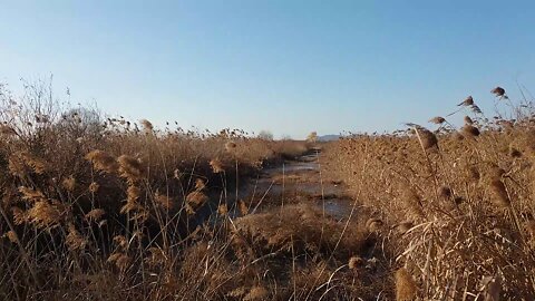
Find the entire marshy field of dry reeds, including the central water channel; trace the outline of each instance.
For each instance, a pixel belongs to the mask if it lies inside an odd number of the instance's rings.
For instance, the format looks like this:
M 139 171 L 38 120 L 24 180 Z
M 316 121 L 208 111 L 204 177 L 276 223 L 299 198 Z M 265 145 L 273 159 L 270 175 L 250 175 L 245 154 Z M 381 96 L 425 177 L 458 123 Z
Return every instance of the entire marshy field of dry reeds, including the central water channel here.
M 314 143 L 1 91 L 2 300 L 534 298 L 528 103 Z

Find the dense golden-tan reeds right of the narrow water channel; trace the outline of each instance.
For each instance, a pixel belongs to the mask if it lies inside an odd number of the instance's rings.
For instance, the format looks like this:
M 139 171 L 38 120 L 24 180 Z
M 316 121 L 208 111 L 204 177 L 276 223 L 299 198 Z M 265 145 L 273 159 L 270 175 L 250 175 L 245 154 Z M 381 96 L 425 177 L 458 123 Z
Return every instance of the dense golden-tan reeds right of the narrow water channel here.
M 493 90 L 487 119 L 473 97 L 435 130 L 352 135 L 328 147 L 331 176 L 385 222 L 398 300 L 533 300 L 533 103 Z

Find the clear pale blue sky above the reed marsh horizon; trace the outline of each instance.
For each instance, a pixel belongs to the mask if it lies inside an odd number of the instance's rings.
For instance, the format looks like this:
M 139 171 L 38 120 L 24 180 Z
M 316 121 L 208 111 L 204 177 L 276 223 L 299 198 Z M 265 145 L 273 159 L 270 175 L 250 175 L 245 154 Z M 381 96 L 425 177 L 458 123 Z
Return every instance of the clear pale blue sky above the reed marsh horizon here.
M 303 138 L 535 90 L 535 1 L 0 0 L 0 82 L 110 115 Z M 535 91 L 534 91 L 535 94 Z

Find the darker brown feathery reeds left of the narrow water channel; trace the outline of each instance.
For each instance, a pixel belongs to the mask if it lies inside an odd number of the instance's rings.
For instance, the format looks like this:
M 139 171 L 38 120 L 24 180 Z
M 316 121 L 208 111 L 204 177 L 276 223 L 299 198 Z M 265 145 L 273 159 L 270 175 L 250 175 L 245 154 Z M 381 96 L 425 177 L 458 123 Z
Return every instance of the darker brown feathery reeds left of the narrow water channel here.
M 0 86 L 0 299 L 273 295 L 231 216 L 240 185 L 303 142 L 105 118 L 41 81 Z

